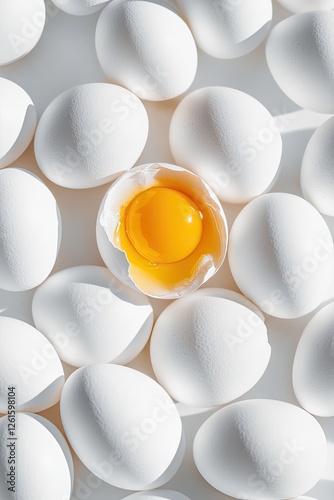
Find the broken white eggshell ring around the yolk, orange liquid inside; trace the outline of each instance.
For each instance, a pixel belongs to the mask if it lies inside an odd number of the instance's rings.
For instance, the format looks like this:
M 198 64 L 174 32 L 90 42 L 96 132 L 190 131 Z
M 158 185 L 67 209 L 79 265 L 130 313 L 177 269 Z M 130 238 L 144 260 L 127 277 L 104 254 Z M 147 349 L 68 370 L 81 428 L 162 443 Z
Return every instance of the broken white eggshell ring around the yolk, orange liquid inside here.
M 168 268 L 176 270 L 174 274 L 177 275 L 175 282 L 168 285 L 153 276 L 154 264 L 148 262 L 146 267 L 131 264 L 116 238 L 121 208 L 138 193 L 156 186 L 173 186 L 183 190 L 202 210 L 207 211 L 210 219 L 207 229 L 203 223 L 202 238 L 194 252 L 179 262 L 165 264 L 177 266 Z M 208 235 L 210 238 L 214 235 L 214 248 L 202 252 L 203 248 L 207 250 L 205 242 Z M 227 249 L 226 218 L 216 195 L 195 174 L 167 163 L 141 165 L 117 179 L 101 203 L 96 236 L 102 259 L 118 279 L 135 290 L 163 299 L 178 298 L 200 287 L 222 265 Z

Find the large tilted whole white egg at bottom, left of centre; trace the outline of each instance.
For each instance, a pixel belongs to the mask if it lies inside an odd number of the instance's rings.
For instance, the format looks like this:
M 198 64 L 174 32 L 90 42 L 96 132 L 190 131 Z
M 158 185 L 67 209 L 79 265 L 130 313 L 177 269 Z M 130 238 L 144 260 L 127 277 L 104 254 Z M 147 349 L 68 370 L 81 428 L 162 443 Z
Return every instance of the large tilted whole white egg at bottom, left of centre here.
M 181 464 L 181 418 L 165 390 L 141 372 L 113 364 L 79 368 L 65 383 L 60 407 L 75 453 L 113 486 L 156 488 Z

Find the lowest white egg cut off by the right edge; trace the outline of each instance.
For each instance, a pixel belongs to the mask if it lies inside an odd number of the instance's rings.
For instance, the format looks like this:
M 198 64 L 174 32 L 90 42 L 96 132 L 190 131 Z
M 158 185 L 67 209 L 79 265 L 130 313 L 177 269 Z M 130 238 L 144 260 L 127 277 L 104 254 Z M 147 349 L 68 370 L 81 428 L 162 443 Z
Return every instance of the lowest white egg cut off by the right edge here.
M 300 405 L 321 417 L 334 416 L 334 303 L 321 309 L 300 337 L 293 387 Z

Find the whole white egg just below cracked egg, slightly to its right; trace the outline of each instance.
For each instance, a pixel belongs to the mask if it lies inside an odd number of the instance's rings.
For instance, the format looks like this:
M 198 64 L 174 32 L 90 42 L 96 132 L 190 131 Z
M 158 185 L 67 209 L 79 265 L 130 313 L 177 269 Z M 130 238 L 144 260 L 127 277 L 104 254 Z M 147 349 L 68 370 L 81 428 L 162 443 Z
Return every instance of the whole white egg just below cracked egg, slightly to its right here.
M 261 313 L 217 288 L 167 306 L 151 338 L 159 383 L 177 401 L 196 407 L 222 405 L 247 392 L 262 377 L 270 352 Z

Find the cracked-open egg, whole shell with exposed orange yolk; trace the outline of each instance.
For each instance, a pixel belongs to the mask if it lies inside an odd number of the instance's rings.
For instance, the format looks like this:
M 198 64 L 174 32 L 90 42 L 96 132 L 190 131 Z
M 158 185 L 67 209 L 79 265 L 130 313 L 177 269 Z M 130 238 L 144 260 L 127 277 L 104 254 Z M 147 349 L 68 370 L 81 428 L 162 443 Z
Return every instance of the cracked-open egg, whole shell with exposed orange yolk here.
M 227 223 L 220 202 L 197 175 L 176 165 L 132 168 L 112 184 L 96 236 L 110 271 L 151 297 L 196 290 L 222 265 Z

